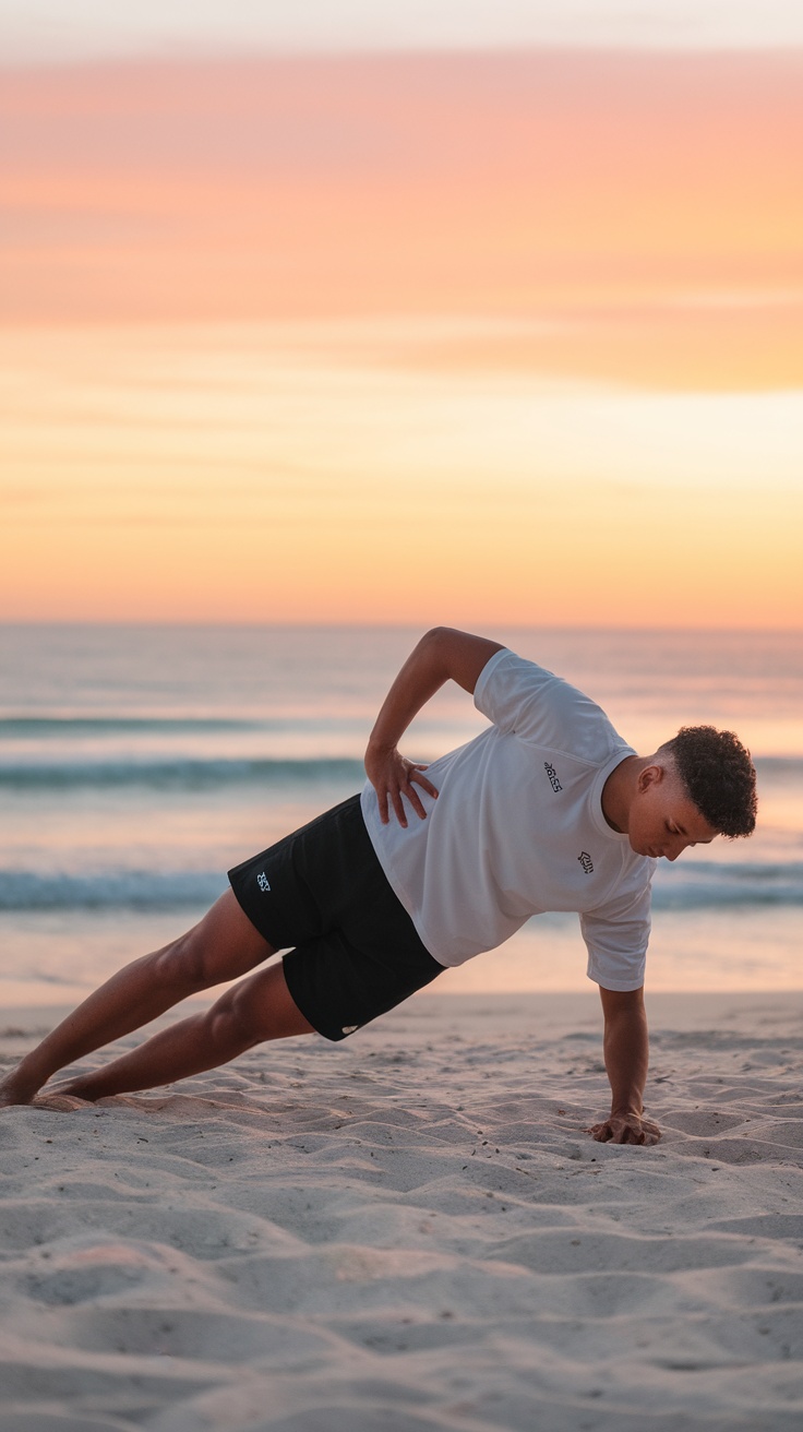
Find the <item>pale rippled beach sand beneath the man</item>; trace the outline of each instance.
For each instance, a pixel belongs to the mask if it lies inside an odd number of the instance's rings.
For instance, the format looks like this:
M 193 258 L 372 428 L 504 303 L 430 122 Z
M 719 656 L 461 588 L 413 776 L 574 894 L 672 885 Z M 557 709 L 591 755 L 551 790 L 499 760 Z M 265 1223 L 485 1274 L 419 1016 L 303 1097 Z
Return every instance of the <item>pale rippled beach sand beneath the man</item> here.
M 593 991 L 4 1111 L 0 1432 L 800 1432 L 803 995 L 650 1012 L 654 1148 Z

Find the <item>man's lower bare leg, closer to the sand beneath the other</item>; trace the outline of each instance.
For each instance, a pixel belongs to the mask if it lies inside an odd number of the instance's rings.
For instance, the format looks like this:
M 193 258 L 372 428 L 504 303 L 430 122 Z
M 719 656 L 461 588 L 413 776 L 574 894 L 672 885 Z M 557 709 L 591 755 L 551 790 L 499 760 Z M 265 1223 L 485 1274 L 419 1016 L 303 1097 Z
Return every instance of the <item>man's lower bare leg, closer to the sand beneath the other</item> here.
M 160 1030 L 130 1054 L 57 1084 L 53 1093 L 94 1100 L 155 1088 L 228 1064 L 266 1040 L 313 1032 L 289 994 L 282 965 L 271 965 L 226 990 L 210 1010 Z

